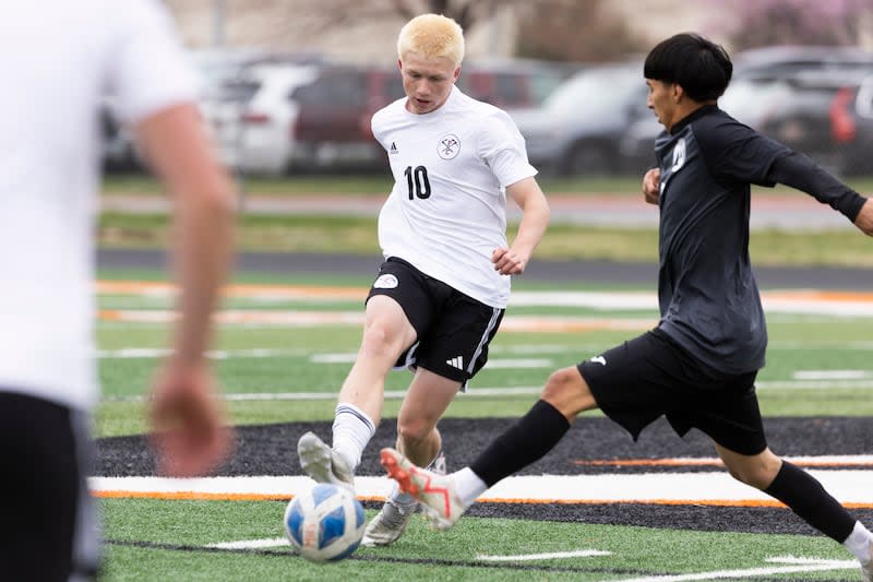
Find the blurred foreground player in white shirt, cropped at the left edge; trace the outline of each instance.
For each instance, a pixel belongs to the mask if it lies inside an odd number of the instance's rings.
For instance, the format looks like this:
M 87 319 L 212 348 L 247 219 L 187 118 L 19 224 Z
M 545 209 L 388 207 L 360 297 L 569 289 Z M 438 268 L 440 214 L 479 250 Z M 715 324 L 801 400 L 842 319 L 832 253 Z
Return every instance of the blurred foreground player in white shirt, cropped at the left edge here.
M 203 354 L 229 264 L 231 189 L 155 0 L 10 3 L 0 76 L 0 577 L 83 580 L 99 565 L 86 477 L 101 97 L 118 99 L 175 203 L 181 317 L 151 411 L 169 475 L 206 473 L 230 446 Z

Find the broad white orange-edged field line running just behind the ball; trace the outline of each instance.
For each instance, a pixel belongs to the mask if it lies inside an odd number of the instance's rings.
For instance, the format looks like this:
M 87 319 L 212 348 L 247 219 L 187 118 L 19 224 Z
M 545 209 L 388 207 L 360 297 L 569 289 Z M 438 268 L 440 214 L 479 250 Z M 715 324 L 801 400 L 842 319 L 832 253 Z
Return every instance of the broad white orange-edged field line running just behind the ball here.
M 873 470 L 810 470 L 834 497 L 844 503 L 873 506 Z M 361 499 L 382 499 L 391 490 L 387 477 L 359 476 L 355 492 Z M 202 477 L 91 477 L 92 491 L 112 491 L 119 497 L 137 494 L 159 496 L 186 494 L 290 498 L 312 486 L 304 476 Z M 521 502 L 723 502 L 761 504 L 772 498 L 745 486 L 727 473 L 659 473 L 545 475 L 509 477 L 488 489 L 480 501 Z

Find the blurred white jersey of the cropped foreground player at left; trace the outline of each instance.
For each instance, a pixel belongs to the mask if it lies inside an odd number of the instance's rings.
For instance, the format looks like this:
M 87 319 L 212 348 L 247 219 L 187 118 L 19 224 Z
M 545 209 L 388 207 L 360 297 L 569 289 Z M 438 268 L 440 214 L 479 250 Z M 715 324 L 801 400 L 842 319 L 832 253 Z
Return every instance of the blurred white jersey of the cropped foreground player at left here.
M 89 409 L 103 95 L 128 121 L 193 102 L 155 0 L 8 2 L 0 19 L 0 391 Z

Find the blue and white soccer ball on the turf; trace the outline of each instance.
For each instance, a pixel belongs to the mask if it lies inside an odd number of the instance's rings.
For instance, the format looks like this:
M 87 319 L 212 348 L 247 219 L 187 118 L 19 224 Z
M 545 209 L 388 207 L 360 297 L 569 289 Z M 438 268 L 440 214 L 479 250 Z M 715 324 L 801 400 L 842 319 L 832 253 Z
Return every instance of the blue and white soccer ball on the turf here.
M 285 534 L 313 562 L 351 556 L 363 537 L 363 507 L 345 487 L 319 484 L 298 495 L 285 510 Z

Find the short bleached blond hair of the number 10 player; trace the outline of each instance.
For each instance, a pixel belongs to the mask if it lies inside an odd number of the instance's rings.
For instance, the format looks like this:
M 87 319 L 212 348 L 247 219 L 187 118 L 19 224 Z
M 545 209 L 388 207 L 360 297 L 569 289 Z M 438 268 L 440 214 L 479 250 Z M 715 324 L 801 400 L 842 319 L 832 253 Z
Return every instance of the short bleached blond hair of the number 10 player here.
M 400 60 L 409 52 L 426 59 L 445 58 L 458 66 L 464 60 L 464 31 L 442 14 L 421 14 L 407 22 L 397 38 Z

